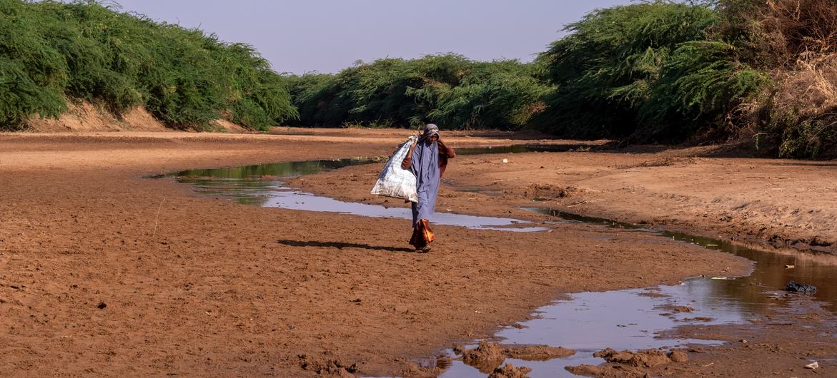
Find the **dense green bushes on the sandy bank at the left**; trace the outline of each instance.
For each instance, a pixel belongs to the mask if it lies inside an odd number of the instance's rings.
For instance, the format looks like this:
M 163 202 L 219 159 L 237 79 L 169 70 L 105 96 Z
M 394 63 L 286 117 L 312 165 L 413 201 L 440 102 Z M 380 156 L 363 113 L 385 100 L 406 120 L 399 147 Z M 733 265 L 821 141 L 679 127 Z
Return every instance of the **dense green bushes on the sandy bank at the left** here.
M 253 48 L 94 1 L 0 0 L 0 128 L 55 117 L 66 98 L 114 113 L 145 106 L 176 128 L 295 118 L 284 79 Z

